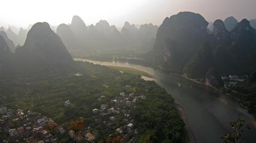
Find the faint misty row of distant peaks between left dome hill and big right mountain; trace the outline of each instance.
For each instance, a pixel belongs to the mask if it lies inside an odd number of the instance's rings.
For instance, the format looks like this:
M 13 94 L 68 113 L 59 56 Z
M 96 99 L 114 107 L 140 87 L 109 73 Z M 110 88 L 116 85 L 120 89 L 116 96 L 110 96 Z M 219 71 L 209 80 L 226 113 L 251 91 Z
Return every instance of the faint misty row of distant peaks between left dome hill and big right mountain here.
M 141 25 L 140 29 L 137 29 L 134 24 L 125 22 L 124 27 L 119 32 L 115 25 L 110 25 L 105 20 L 87 26 L 78 16 L 73 16 L 72 22 L 68 26 L 73 33 L 71 34 L 71 37 L 74 37 L 71 38 L 73 40 L 65 38 L 67 37 L 64 32 L 65 29 L 57 28 L 57 34 L 63 38 L 63 43 L 66 44 L 68 50 L 122 48 L 150 50 L 157 31 L 157 27 L 152 24 Z M 73 45 L 72 43 L 77 44 Z

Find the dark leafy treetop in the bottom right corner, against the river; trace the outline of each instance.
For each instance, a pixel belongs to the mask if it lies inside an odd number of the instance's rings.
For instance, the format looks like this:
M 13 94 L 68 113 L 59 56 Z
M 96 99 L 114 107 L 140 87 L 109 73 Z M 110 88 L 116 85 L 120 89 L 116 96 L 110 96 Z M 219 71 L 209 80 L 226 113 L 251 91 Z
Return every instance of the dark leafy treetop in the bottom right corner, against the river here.
M 244 132 L 244 120 L 238 117 L 237 120 L 231 121 L 230 125 L 232 126 L 232 132 L 225 134 L 221 139 L 223 139 L 223 143 L 237 143 L 242 141 L 241 133 Z M 249 125 L 246 126 L 247 129 L 250 130 Z

